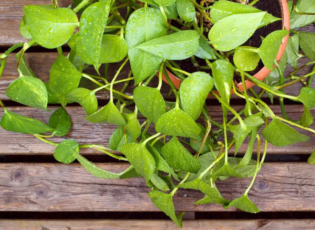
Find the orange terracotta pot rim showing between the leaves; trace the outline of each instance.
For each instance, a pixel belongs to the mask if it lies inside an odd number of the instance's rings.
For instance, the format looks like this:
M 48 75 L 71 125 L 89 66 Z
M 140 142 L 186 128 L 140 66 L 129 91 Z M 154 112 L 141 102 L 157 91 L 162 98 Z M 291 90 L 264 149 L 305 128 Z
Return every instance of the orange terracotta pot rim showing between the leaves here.
M 282 29 L 289 30 L 290 29 L 290 15 L 289 15 L 289 8 L 288 8 L 287 0 L 279 0 L 279 1 L 281 3 L 282 13 L 283 13 L 283 17 L 282 17 L 283 18 L 283 26 L 282 26 Z M 277 61 L 279 61 L 282 58 L 282 56 L 284 54 L 284 51 L 285 51 L 285 47 L 287 46 L 288 39 L 289 39 L 289 35 L 285 36 L 282 39 L 282 42 L 281 42 L 281 45 L 280 45 L 280 48 L 279 48 L 279 52 L 278 52 L 277 57 L 276 57 Z M 268 70 L 266 68 L 266 66 L 264 66 L 261 70 L 259 70 L 258 73 L 256 73 L 254 75 L 254 77 L 257 78 L 259 81 L 262 81 L 262 80 L 264 80 L 264 78 L 266 76 L 268 76 L 270 74 L 270 72 L 271 71 Z M 173 82 L 174 86 L 178 89 L 179 86 L 180 86 L 180 82 L 182 80 L 180 80 L 178 77 L 176 77 L 174 74 L 172 74 L 168 70 L 167 70 L 167 73 L 169 74 L 169 78 Z M 162 79 L 163 79 L 163 81 L 168 83 L 164 75 L 162 75 Z M 254 83 L 252 83 L 250 81 L 246 81 L 246 89 L 249 89 L 252 86 L 254 86 Z M 238 83 L 238 88 L 240 90 L 243 90 L 242 83 Z M 233 93 L 233 90 L 232 90 L 232 93 Z

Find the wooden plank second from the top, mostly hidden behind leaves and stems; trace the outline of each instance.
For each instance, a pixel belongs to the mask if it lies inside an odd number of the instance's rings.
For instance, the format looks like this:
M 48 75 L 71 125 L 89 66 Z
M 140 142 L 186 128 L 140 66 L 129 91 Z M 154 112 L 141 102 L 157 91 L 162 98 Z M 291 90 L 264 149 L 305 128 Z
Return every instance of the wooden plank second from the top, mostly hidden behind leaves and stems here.
M 65 53 L 66 54 L 66 53 Z M 38 78 L 43 80 L 44 82 L 49 81 L 49 70 L 51 66 L 53 65 L 54 61 L 57 59 L 58 53 L 52 52 L 52 53 L 25 53 L 26 61 L 28 65 L 31 67 L 31 69 L 34 71 L 34 73 L 37 75 Z M 307 58 L 301 58 L 299 60 L 299 67 L 304 65 L 305 63 L 309 62 L 310 60 Z M 113 63 L 109 65 L 109 79 L 112 79 L 114 76 L 116 70 L 121 65 L 121 62 L 119 63 Z M 121 74 L 119 75 L 118 79 L 123 79 L 128 76 L 128 72 L 130 70 L 129 65 L 127 65 L 125 68 L 123 68 Z M 292 72 L 294 69 L 291 66 L 287 66 L 286 71 L 284 72 L 284 77 L 289 76 L 290 72 Z M 307 66 L 303 70 L 299 71 L 296 75 L 297 76 L 303 76 L 305 74 L 310 73 L 312 70 L 312 65 Z M 87 73 L 97 75 L 93 67 L 89 67 L 87 70 Z M 101 76 L 104 76 L 104 68 L 100 68 L 100 74 Z M 9 84 L 14 81 L 19 76 L 18 71 L 16 70 L 16 59 L 15 59 L 15 53 L 9 55 L 6 67 L 3 71 L 3 75 L 0 80 L 0 99 L 2 100 L 10 100 L 7 96 L 5 96 L 4 91 L 8 88 Z M 85 80 L 83 78 L 83 80 Z M 82 84 L 87 85 L 88 80 L 82 81 Z M 153 78 L 150 82 L 149 86 L 156 87 L 158 84 L 158 78 Z M 121 90 L 124 83 L 118 83 L 115 84 L 114 88 L 117 90 Z M 92 86 L 94 88 L 97 88 L 97 86 Z M 301 83 L 296 83 L 292 86 L 289 86 L 284 89 L 285 93 L 288 93 L 289 95 L 298 95 L 300 93 L 301 87 L 303 85 Z M 312 87 L 315 87 L 315 81 L 312 83 Z M 129 87 L 126 89 L 125 93 L 132 94 L 135 86 L 133 84 L 130 84 Z M 167 93 L 169 92 L 169 85 L 163 82 L 161 93 L 164 98 L 166 98 Z M 261 89 L 259 87 L 254 87 L 256 92 L 260 92 Z M 98 99 L 108 100 L 109 99 L 109 91 L 102 90 L 97 92 Z M 263 98 L 266 98 L 267 95 L 264 94 Z M 232 96 L 232 98 L 238 98 L 237 96 Z M 173 94 L 170 95 L 169 99 L 175 99 Z M 241 100 L 241 99 L 240 99 Z

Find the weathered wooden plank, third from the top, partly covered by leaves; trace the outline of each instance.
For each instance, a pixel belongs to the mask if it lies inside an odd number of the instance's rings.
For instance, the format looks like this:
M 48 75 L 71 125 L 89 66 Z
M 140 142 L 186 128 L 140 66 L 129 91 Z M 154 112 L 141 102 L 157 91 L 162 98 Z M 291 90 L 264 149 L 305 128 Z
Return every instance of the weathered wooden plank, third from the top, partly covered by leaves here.
M 49 107 L 53 111 L 58 107 Z M 72 120 L 72 130 L 65 137 L 53 137 L 49 140 L 60 143 L 64 138 L 72 138 L 76 140 L 79 144 L 101 144 L 108 145 L 109 138 L 112 132 L 117 126 L 108 123 L 95 124 L 90 123 L 84 119 L 86 116 L 85 111 L 81 107 L 67 107 L 66 108 Z M 239 111 L 242 106 L 235 106 L 234 109 Z M 271 109 L 275 114 L 281 116 L 280 106 L 272 105 Z M 288 116 L 294 120 L 298 120 L 303 113 L 303 106 L 301 105 L 288 105 L 286 111 Z M 16 112 L 21 115 L 33 117 L 39 119 L 45 123 L 48 123 L 50 115 L 53 111 L 44 111 L 30 107 L 9 107 L 10 111 Z M 209 114 L 212 119 L 222 123 L 222 109 L 221 106 L 208 106 Z M 312 109 L 314 112 L 315 109 Z M 2 115 L 2 111 L 0 115 Z M 229 118 L 232 114 L 229 113 Z M 140 123 L 143 122 L 144 118 L 139 118 Z M 202 119 L 198 120 L 202 122 Z M 313 129 L 315 125 L 311 126 Z M 308 135 L 310 140 L 307 143 L 296 143 L 287 147 L 275 147 L 271 144 L 268 145 L 268 153 L 270 154 L 311 154 L 315 149 L 315 135 L 306 130 L 299 130 L 301 133 Z M 149 132 L 155 133 L 154 127 L 150 127 Z M 229 133 L 231 135 L 231 133 Z M 223 141 L 223 140 L 222 140 Z M 241 146 L 239 153 L 245 153 L 248 145 L 248 138 L 245 140 L 244 144 Z M 8 132 L 0 128 L 0 154 L 10 155 L 10 154 L 53 154 L 55 147 L 45 144 L 32 135 Z M 254 152 L 256 152 L 256 147 L 254 147 Z M 101 154 L 94 149 L 82 149 L 82 154 Z M 230 153 L 234 153 L 234 149 L 230 150 Z

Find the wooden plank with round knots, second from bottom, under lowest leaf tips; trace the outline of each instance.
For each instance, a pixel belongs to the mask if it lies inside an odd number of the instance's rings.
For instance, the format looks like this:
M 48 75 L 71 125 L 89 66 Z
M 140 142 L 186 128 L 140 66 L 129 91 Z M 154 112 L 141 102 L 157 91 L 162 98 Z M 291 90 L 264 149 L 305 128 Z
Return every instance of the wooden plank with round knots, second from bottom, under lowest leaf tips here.
M 120 172 L 128 163 L 99 163 Z M 239 197 L 251 178 L 217 182 L 226 199 Z M 315 211 L 315 170 L 307 163 L 268 163 L 249 191 L 261 211 Z M 72 163 L 0 164 L 1 211 L 158 211 L 143 178 L 106 180 Z M 173 197 L 177 211 L 224 211 L 220 205 L 193 205 L 203 198 L 196 190 L 180 189 Z M 235 211 L 236 209 L 229 209 Z

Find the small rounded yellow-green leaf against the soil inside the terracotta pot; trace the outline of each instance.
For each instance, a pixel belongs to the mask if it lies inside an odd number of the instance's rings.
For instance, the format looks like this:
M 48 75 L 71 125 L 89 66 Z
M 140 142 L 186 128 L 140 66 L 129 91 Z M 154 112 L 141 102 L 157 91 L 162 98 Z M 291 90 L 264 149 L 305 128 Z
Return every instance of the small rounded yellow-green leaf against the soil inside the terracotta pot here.
M 255 70 L 259 60 L 260 56 L 258 53 L 247 50 L 236 49 L 233 55 L 234 65 L 243 71 Z

